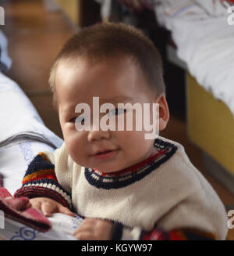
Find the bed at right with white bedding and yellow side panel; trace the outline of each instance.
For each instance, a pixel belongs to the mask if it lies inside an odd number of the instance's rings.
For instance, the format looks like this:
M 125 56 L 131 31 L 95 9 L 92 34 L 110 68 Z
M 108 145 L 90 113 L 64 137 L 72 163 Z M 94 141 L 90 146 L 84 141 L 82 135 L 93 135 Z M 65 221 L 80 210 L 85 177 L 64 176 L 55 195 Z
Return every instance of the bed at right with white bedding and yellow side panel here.
M 234 194 L 233 2 L 165 1 L 155 8 L 176 48 L 168 59 L 186 72 L 189 138 L 204 152 L 207 172 Z

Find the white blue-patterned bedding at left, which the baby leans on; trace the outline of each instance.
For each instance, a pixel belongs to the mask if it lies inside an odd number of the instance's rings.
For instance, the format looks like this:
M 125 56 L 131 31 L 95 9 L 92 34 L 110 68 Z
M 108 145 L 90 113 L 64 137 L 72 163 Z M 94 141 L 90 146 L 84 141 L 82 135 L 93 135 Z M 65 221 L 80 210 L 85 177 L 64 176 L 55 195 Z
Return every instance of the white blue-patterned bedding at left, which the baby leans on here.
M 37 153 L 53 151 L 63 140 L 45 127 L 20 86 L 2 73 L 0 109 L 0 174 L 3 175 L 3 186 L 13 195 Z M 2 229 L 0 219 L 0 240 L 74 240 L 72 234 L 82 222 L 79 216 L 73 218 L 62 214 L 52 215 L 49 219 L 52 228 L 46 233 L 9 218 L 4 218 Z

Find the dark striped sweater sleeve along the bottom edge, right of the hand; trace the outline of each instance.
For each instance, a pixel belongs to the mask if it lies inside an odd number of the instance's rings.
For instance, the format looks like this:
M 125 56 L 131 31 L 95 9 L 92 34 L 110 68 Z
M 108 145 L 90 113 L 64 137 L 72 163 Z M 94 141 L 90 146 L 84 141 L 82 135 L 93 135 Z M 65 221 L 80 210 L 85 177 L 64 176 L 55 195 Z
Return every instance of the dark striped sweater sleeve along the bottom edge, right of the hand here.
M 114 222 L 112 240 L 216 240 L 216 236 L 197 229 L 165 231 L 155 227 L 150 232 L 146 232 L 138 227 L 131 229 L 119 222 Z

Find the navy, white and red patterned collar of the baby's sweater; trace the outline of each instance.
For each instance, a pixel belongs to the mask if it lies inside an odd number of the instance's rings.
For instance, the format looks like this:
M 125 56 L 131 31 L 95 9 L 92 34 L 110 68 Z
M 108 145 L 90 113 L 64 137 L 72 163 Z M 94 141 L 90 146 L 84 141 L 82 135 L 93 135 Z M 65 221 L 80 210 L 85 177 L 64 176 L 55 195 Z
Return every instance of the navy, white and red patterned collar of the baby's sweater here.
M 177 150 L 177 146 L 161 139 L 154 140 L 154 147 L 158 151 L 154 156 L 121 171 L 103 173 L 96 169 L 85 168 L 84 175 L 87 182 L 98 189 L 119 189 L 129 186 L 156 170 Z

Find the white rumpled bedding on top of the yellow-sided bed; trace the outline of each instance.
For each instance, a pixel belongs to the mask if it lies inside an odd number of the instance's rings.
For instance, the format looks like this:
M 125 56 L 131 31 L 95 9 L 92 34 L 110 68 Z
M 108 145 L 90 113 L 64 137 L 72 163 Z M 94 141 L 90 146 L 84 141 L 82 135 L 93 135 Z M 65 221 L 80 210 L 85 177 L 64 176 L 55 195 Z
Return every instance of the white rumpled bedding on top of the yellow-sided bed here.
M 156 2 L 158 21 L 172 31 L 190 74 L 234 114 L 234 25 L 227 8 L 218 0 Z

